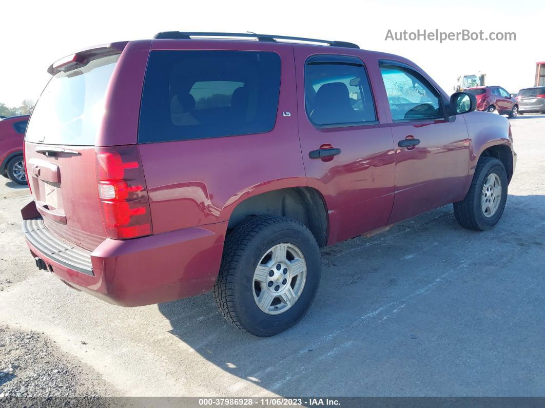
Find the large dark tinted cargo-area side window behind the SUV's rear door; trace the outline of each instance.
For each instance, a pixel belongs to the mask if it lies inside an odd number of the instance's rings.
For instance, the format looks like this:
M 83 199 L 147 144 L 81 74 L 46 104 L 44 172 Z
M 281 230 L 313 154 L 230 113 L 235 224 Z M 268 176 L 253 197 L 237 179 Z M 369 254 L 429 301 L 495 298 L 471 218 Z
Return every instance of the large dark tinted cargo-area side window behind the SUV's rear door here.
M 280 57 L 253 51 L 153 51 L 138 142 L 269 132 L 280 93 Z

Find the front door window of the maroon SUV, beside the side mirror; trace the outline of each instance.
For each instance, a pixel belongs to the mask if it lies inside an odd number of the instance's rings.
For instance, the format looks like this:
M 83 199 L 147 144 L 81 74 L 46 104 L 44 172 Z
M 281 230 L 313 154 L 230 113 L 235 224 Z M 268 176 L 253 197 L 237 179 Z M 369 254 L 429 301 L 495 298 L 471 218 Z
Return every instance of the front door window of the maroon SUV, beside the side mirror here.
M 392 120 L 442 118 L 439 95 L 425 78 L 408 68 L 381 64 Z

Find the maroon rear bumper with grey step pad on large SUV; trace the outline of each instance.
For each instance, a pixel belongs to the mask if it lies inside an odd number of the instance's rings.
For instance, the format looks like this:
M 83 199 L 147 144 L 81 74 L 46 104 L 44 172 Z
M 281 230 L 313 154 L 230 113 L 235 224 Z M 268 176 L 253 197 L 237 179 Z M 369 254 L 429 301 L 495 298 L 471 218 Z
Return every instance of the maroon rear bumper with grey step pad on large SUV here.
M 41 218 L 23 221 L 27 245 L 47 269 L 70 287 L 120 306 L 151 305 L 211 290 L 226 228 L 224 222 L 131 240 L 106 239 L 86 252 L 52 235 Z

